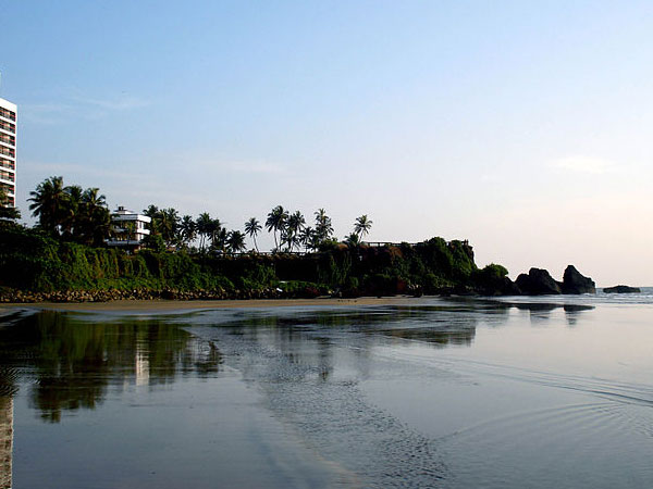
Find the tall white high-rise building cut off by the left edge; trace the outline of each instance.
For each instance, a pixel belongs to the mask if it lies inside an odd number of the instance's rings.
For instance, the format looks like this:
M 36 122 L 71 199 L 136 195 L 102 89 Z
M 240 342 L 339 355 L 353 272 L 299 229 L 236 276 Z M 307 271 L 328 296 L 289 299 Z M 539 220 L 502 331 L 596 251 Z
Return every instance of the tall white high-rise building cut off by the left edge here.
M 16 204 L 16 105 L 0 99 L 0 188 L 7 192 L 8 201 L 0 204 Z

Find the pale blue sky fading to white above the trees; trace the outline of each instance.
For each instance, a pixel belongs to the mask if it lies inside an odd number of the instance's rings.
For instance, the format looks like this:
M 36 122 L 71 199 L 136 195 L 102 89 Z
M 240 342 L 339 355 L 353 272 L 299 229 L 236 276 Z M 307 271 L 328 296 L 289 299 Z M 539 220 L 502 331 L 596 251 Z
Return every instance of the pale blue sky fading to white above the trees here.
M 275 205 L 653 285 L 653 3 L 0 0 L 17 205 Z M 271 247 L 271 235 L 259 238 Z

